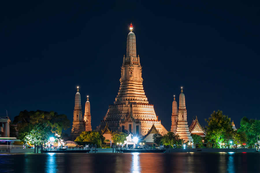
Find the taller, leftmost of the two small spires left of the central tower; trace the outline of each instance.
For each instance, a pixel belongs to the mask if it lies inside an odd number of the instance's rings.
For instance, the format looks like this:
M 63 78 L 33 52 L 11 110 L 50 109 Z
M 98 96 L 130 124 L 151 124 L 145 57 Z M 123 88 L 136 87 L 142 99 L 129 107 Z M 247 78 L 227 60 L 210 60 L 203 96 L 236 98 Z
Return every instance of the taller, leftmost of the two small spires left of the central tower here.
M 81 110 L 81 98 L 79 94 L 79 87 L 77 87 L 77 93 L 75 95 L 75 107 L 73 112 L 73 124 L 70 133 L 72 140 L 75 140 L 82 131 L 84 131 L 84 126 Z

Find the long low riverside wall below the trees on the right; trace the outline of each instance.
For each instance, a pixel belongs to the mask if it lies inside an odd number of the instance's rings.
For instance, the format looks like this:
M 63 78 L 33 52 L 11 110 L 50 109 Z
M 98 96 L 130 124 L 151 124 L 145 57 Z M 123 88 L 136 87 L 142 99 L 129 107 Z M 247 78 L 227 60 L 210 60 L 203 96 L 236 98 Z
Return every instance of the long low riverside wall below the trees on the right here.
M 188 152 L 186 148 L 171 148 L 170 152 Z M 166 149 L 169 152 L 169 148 Z M 255 148 L 190 148 L 190 152 L 256 152 Z

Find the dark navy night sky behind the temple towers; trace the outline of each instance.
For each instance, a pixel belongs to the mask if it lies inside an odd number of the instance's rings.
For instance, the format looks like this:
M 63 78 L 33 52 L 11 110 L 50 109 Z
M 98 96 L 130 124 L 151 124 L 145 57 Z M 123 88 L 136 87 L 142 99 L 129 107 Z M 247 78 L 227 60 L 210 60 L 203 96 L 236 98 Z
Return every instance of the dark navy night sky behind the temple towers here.
M 259 2 L 93 2 L 1 2 L 0 116 L 40 109 L 72 121 L 79 85 L 95 129 L 119 90 L 132 22 L 144 91 L 167 130 L 181 86 L 189 125 L 218 109 L 236 127 L 260 118 Z

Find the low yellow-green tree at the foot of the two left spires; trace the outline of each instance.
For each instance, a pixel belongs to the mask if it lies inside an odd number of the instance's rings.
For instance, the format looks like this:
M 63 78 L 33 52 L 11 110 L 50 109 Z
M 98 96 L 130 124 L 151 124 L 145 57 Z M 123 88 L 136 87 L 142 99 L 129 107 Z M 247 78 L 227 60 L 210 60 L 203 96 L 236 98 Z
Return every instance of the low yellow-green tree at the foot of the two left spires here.
M 96 144 L 96 146 L 99 148 L 100 147 L 100 139 L 101 139 L 101 144 L 103 144 L 104 140 L 105 140 L 105 137 L 103 135 L 101 135 L 99 132 L 83 131 L 75 139 L 75 141 L 90 142 L 92 144 Z

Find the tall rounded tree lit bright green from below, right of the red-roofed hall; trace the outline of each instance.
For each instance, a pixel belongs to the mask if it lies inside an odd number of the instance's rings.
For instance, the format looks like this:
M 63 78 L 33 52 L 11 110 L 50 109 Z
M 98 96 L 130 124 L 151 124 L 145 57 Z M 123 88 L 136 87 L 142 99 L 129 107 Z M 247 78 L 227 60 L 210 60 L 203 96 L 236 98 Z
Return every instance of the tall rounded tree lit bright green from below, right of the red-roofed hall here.
M 208 123 L 206 139 L 214 144 L 214 147 L 221 148 L 221 143 L 229 142 L 233 129 L 228 116 L 223 115 L 222 111 L 218 110 L 214 111 L 211 117 L 205 121 Z

